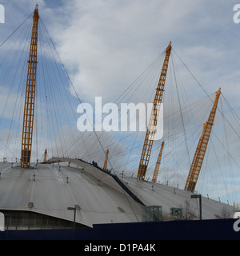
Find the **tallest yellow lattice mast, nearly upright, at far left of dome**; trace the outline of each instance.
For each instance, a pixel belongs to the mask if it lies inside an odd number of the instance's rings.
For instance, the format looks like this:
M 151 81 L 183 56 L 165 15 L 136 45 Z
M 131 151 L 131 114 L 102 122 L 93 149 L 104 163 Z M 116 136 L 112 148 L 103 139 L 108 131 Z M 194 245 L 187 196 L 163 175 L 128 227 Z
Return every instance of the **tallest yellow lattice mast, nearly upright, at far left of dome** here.
M 25 168 L 30 166 L 32 136 L 34 127 L 34 100 L 38 48 L 38 18 L 38 5 L 36 5 L 33 16 L 33 27 L 30 42 L 30 54 L 26 78 L 26 96 L 22 125 L 21 166 Z

